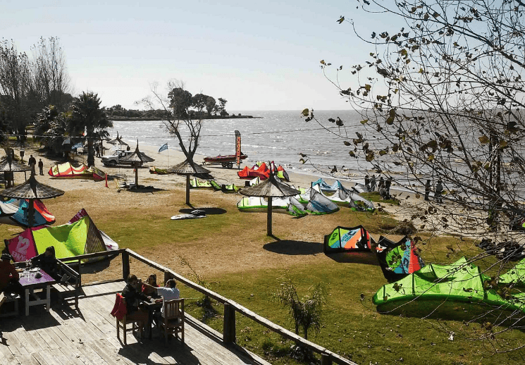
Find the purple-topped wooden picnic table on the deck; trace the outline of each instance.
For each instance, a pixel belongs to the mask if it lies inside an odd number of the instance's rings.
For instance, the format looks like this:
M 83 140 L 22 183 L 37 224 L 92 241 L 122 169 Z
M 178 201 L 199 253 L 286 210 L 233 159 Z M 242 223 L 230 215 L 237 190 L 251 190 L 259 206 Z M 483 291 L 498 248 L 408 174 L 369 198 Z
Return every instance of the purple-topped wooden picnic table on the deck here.
M 36 276 L 39 275 L 39 278 Z M 50 289 L 51 285 L 56 283 L 54 278 L 51 278 L 48 273 L 46 273 L 42 268 L 31 268 L 26 269 L 20 273 L 20 279 L 18 280 L 20 285 L 24 288 L 25 291 L 25 316 L 29 316 L 29 307 L 45 304 L 46 311 L 49 312 L 51 308 L 51 294 Z M 35 289 L 45 289 L 42 292 L 45 293 L 44 299 L 37 297 L 33 290 Z M 32 295 L 30 295 L 32 292 Z

